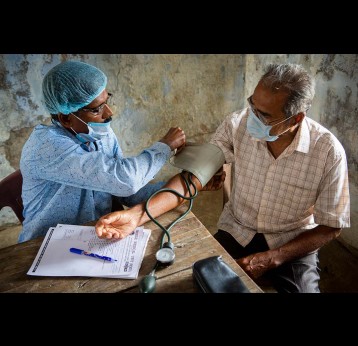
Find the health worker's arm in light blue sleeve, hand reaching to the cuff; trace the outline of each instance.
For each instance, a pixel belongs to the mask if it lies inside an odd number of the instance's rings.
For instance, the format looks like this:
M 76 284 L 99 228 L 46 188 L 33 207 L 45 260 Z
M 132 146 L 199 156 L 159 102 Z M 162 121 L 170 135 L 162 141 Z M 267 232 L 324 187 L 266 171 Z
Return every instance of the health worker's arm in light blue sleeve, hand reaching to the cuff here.
M 128 197 L 154 179 L 170 157 L 171 150 L 185 144 L 180 128 L 133 157 L 116 156 L 117 139 L 111 132 L 99 151 L 87 152 L 67 135 L 45 132 L 32 136 L 23 153 L 23 163 L 31 164 L 31 175 L 81 189 Z

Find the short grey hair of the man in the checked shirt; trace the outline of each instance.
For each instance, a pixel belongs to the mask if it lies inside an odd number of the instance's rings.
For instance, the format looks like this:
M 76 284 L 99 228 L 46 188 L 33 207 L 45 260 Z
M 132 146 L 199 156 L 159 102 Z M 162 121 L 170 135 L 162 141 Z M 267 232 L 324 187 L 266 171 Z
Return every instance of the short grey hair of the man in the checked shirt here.
M 286 91 L 283 112 L 287 117 L 307 111 L 315 94 L 315 81 L 297 64 L 269 64 L 260 82 L 273 92 Z

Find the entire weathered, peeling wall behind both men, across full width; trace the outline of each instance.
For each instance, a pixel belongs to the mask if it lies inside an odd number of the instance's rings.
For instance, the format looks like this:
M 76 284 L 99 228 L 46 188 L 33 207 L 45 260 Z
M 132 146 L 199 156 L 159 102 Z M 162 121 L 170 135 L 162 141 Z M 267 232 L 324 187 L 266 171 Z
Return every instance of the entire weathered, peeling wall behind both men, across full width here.
M 346 149 L 352 227 L 341 236 L 358 248 L 357 55 L 0 55 L 0 179 L 19 167 L 21 149 L 33 127 L 50 117 L 41 104 L 44 74 L 60 61 L 98 66 L 115 95 L 112 128 L 126 155 L 181 126 L 189 141 L 207 141 L 225 115 L 246 106 L 268 62 L 304 65 L 317 80 L 310 116 L 330 129 Z M 177 171 L 166 165 L 157 179 Z M 16 223 L 0 212 L 0 227 Z

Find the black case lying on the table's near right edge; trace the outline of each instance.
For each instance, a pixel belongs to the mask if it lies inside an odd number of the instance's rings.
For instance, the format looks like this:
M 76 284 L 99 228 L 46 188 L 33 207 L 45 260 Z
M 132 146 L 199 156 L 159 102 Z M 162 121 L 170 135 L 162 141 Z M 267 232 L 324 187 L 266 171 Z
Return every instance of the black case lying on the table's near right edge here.
M 194 281 L 203 293 L 250 293 L 221 256 L 196 261 L 192 267 Z

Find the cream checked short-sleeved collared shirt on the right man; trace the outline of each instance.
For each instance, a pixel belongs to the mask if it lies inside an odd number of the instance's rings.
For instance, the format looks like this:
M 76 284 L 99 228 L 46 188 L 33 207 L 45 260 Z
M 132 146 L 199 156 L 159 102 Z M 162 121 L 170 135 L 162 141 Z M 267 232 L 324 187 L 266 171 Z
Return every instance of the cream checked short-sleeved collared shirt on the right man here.
M 247 108 L 228 115 L 211 140 L 234 168 L 218 228 L 242 246 L 263 233 L 272 249 L 317 225 L 350 227 L 347 159 L 338 139 L 306 116 L 275 159 L 247 132 L 247 117 Z

